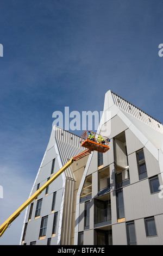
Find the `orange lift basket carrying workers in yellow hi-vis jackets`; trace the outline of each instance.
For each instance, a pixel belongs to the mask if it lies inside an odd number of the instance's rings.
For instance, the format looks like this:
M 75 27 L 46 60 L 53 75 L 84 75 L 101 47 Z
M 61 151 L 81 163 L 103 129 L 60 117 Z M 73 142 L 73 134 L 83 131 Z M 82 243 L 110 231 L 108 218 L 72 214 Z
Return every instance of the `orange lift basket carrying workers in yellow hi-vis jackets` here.
M 89 135 L 94 135 L 95 138 L 90 139 Z M 109 150 L 109 138 L 105 136 L 101 136 L 104 140 L 102 141 L 102 138 L 98 141 L 98 133 L 91 132 L 91 131 L 84 131 L 81 135 L 82 137 L 82 147 L 90 149 L 90 150 L 96 150 L 98 152 L 105 153 Z

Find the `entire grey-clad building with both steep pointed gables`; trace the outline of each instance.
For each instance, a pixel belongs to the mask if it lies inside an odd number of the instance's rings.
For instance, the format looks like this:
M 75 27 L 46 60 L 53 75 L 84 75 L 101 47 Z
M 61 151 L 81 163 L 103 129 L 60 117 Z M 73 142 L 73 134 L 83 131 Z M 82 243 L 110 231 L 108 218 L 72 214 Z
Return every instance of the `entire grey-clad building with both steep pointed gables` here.
M 55 172 L 83 151 L 80 137 L 56 130 L 32 193 L 54 159 Z M 21 244 L 163 244 L 162 124 L 109 90 L 97 133 L 110 138 L 109 151 L 74 162 L 29 205 Z

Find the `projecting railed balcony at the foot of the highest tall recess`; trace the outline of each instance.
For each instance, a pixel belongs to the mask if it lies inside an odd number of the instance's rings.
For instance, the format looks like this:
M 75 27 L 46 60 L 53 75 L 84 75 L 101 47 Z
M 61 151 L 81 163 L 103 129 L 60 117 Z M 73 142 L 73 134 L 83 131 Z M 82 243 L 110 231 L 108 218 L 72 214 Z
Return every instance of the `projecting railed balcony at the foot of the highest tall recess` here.
M 115 174 L 116 189 L 130 184 L 129 168 L 119 170 Z

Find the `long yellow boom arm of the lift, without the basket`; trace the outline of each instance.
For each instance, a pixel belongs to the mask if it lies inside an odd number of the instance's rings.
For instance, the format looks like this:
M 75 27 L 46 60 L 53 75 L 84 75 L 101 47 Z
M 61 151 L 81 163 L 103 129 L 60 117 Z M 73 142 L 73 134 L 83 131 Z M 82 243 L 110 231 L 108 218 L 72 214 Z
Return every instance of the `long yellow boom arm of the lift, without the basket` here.
M 45 188 L 47 186 L 49 186 L 55 179 L 58 178 L 58 176 L 64 172 L 64 170 L 66 170 L 72 163 L 73 161 L 77 161 L 79 159 L 81 159 L 82 157 L 89 155 L 91 153 L 92 150 L 85 150 L 82 153 L 80 153 L 77 156 L 72 157 L 72 159 L 70 159 L 57 173 L 55 173 L 51 179 L 49 179 L 42 187 L 40 187 L 31 197 L 29 197 L 26 202 L 24 202 L 20 208 L 18 208 L 14 214 L 12 214 L 1 226 L 0 226 L 0 236 L 3 235 L 4 231 L 8 228 L 8 226 L 11 224 L 12 221 L 15 220 L 15 218 L 18 217 L 18 215 L 20 215 L 20 213 L 30 204 L 33 202 L 33 200 L 39 196 L 39 194 L 41 194 L 41 192 L 43 190 L 45 190 Z

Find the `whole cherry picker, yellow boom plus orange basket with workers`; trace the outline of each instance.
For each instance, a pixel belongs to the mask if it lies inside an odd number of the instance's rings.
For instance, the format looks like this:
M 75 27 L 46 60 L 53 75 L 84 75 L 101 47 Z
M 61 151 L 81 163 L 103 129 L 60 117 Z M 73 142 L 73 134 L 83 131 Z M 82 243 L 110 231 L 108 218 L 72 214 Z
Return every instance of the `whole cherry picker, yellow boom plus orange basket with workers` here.
M 41 194 L 43 190 L 45 190 L 46 187 L 48 187 L 55 179 L 58 178 L 58 176 L 64 172 L 74 161 L 78 161 L 79 159 L 82 159 L 82 157 L 85 157 L 89 155 L 92 151 L 96 150 L 102 153 L 105 153 L 109 150 L 109 141 L 110 139 L 107 137 L 102 137 L 101 135 L 98 135 L 97 133 L 90 132 L 90 131 L 84 131 L 82 133 L 82 147 L 87 148 L 82 153 L 78 154 L 77 156 L 72 157 L 60 170 L 58 170 L 57 173 L 55 173 L 51 179 L 49 179 L 42 187 L 40 187 L 32 196 L 30 196 L 26 202 L 24 202 L 20 208 L 18 208 L 1 226 L 0 226 L 0 236 L 3 235 L 4 231 L 8 228 L 8 226 L 13 222 L 18 215 L 30 204 L 33 202 L 33 200 Z

